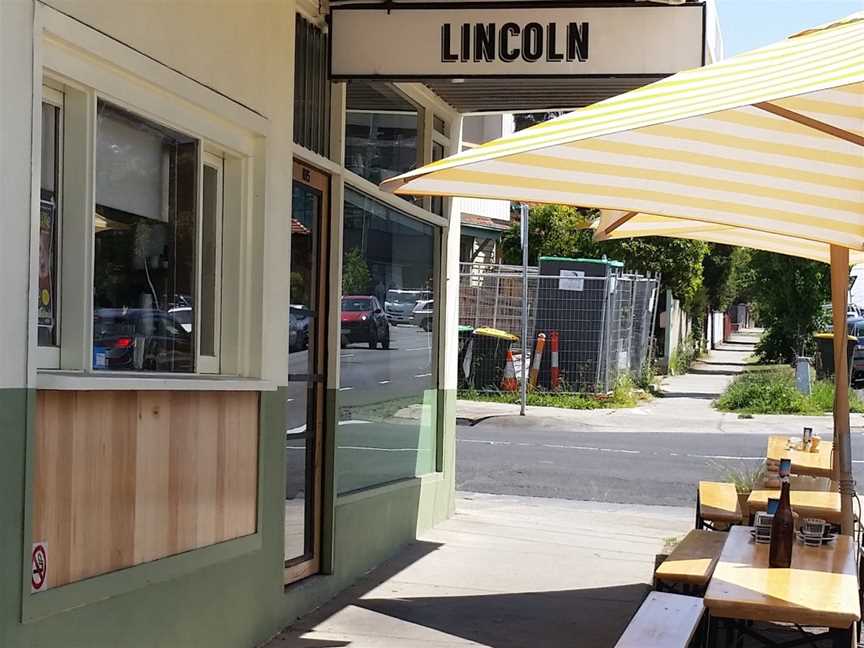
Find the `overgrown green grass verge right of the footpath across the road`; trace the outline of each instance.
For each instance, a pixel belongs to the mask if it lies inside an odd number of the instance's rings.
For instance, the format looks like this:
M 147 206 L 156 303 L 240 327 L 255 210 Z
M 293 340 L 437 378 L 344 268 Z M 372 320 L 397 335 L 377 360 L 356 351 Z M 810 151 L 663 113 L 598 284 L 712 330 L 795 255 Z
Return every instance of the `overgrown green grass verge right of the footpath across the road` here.
M 834 383 L 818 380 L 810 395 L 804 396 L 795 388 L 795 376 L 789 367 L 747 371 L 729 384 L 714 405 L 719 410 L 742 414 L 827 414 L 834 406 Z M 864 403 L 854 392 L 849 394 L 849 408 L 864 412 Z

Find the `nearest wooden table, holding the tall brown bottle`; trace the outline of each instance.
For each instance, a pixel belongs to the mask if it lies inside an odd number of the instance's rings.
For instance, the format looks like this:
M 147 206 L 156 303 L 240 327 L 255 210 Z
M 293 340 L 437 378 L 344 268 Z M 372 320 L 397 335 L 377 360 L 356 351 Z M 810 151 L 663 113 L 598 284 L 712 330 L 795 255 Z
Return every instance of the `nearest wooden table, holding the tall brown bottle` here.
M 848 647 L 861 617 L 852 539 L 839 536 L 824 547 L 796 542 L 792 566 L 771 569 L 769 545 L 753 542 L 750 528 L 732 527 L 723 545 L 704 599 L 712 624 L 721 618 L 827 627 L 836 645 Z M 753 632 L 743 624 L 739 629 Z

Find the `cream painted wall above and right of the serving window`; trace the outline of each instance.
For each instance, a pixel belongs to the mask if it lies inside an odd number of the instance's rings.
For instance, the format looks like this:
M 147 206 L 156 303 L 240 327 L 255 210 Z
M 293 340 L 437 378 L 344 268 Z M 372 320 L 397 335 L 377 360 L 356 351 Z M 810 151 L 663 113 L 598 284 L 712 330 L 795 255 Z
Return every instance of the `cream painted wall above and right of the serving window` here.
M 284 384 L 293 131 L 292 0 L 49 0 L 46 3 L 263 115 L 267 174 L 253 200 L 266 209 L 259 339 L 263 377 Z M 118 7 L 123 10 L 119 11 Z M 170 16 L 170 20 L 166 17 Z M 7 87 L 7 86 L 4 86 Z M 258 364 L 257 362 L 253 364 Z

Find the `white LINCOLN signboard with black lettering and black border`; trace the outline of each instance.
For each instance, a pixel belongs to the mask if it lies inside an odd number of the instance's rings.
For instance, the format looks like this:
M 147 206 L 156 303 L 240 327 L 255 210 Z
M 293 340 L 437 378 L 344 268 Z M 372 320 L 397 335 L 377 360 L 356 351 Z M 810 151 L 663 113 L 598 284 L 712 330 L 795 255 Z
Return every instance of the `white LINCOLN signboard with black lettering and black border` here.
M 703 64 L 705 7 L 408 3 L 331 9 L 345 78 L 663 76 Z

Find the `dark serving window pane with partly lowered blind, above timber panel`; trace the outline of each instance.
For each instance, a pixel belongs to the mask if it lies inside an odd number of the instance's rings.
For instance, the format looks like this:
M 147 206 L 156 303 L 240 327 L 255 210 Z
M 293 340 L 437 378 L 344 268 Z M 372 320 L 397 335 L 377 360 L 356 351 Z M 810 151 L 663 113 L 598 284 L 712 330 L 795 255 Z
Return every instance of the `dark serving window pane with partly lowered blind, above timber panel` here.
M 99 103 L 94 369 L 195 370 L 198 148 L 189 136 Z

